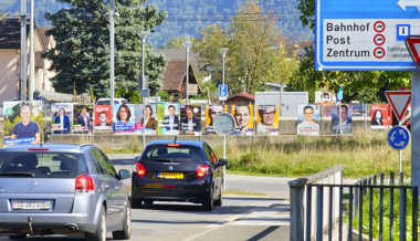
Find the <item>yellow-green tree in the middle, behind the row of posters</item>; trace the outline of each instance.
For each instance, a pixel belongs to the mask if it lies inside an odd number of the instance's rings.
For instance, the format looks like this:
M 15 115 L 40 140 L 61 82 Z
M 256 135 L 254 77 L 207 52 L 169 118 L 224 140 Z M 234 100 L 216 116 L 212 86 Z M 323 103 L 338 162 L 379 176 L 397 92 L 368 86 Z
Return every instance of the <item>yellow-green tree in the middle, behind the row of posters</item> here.
M 219 49 L 229 49 L 225 83 L 230 94 L 254 93 L 263 88 L 264 80 L 269 78 L 269 72 L 275 65 L 275 42 L 281 39 L 277 18 L 274 12 L 266 12 L 253 2 L 244 2 L 227 29 L 213 24 L 201 30 L 197 51 L 204 63 L 221 70 Z M 221 73 L 216 73 L 220 80 Z

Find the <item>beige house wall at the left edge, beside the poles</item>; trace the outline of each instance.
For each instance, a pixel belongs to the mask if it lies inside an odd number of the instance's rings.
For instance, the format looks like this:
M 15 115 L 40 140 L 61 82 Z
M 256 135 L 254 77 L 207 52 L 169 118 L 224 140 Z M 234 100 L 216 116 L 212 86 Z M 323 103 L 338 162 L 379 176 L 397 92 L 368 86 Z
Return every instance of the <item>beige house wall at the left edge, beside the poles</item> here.
M 17 50 L 0 50 L 0 105 L 18 96 Z

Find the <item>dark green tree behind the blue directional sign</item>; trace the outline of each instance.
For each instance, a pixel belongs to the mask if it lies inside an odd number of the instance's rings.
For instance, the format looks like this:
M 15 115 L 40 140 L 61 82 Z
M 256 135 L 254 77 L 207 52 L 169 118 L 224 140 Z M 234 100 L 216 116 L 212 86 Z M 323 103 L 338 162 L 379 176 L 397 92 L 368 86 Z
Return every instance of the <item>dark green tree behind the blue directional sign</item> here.
M 298 0 L 297 9 L 302 12 L 303 25 L 308 25 L 315 31 L 315 0 Z M 385 72 L 385 71 L 315 71 L 315 51 L 313 48 L 306 50 L 305 60 L 295 74 L 294 87 L 303 87 L 305 91 L 315 92 L 327 88 L 337 92 L 338 85 L 344 86 L 344 101 L 358 99 L 372 102 L 379 96 L 379 88 L 386 85 L 389 90 L 398 90 L 410 85 L 409 72 Z

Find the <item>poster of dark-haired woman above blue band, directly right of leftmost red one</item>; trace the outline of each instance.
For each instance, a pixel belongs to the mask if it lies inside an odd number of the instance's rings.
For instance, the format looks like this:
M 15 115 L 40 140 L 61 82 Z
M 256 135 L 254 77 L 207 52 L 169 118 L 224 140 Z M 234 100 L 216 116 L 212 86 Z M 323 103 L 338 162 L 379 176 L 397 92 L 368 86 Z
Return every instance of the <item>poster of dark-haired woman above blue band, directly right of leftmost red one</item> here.
M 114 134 L 133 134 L 135 123 L 134 104 L 114 104 L 113 112 Z

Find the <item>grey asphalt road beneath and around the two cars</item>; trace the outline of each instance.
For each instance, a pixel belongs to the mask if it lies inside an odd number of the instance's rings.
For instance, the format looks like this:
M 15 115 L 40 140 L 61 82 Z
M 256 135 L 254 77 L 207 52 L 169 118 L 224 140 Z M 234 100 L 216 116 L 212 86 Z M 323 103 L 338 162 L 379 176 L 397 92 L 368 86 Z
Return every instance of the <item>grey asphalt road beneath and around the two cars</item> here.
M 129 155 L 109 155 L 117 169 L 133 169 Z M 213 240 L 288 240 L 290 207 L 286 178 L 227 175 L 228 190 L 255 191 L 266 197 L 225 196 L 222 207 L 201 210 L 201 205 L 154 202 L 133 209 L 129 240 L 213 241 Z M 129 180 L 126 180 L 129 184 Z M 83 240 L 67 237 L 29 237 L 34 241 Z M 7 237 L 0 241 L 9 240 Z M 108 233 L 112 240 L 112 233 Z

